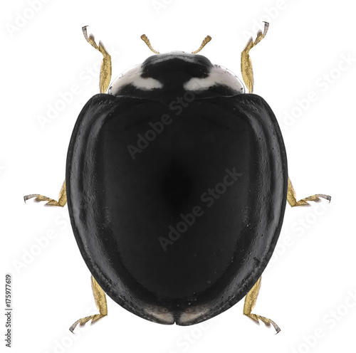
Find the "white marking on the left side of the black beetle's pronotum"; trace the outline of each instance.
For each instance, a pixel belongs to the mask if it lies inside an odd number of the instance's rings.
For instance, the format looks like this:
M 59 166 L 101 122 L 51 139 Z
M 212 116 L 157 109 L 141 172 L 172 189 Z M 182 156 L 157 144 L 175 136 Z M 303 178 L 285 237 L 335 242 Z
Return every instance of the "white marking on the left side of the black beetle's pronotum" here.
M 124 71 L 118 78 L 114 80 L 109 88 L 108 93 L 115 95 L 117 91 L 125 85 L 134 85 L 140 90 L 154 90 L 155 88 L 163 88 L 163 84 L 155 78 L 142 77 L 142 64 L 135 65 L 132 68 Z

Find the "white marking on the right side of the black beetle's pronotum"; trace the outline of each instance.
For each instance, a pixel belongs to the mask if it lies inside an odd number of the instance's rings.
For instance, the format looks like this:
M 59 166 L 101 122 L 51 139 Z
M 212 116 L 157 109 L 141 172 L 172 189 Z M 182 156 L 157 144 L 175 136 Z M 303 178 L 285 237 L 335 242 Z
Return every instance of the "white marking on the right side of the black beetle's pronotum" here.
M 240 93 L 245 93 L 244 85 L 241 80 L 231 73 L 230 70 L 220 65 L 214 65 L 206 78 L 191 78 L 184 83 L 184 90 L 207 90 L 214 85 L 224 85 Z

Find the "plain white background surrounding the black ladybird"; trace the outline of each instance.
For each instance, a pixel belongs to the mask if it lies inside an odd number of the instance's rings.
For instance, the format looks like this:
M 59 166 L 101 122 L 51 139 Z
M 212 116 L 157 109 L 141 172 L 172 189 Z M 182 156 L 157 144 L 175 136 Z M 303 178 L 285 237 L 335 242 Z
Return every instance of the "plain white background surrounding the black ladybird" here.
M 48 0 L 33 1 L 36 11 L 30 3 L 6 1 L 0 15 L 1 280 L 13 276 L 12 351 L 355 352 L 352 1 Z M 81 27 L 90 25 L 112 54 L 113 78 L 151 55 L 142 33 L 161 52 L 190 52 L 209 34 L 213 40 L 201 54 L 241 77 L 240 53 L 266 20 L 268 35 L 251 51 L 254 93 L 283 128 L 298 198 L 333 196 L 330 205 L 287 206 L 254 310 L 275 320 L 281 332 L 244 317 L 243 301 L 203 325 L 178 327 L 148 322 L 108 299 L 108 317 L 71 334 L 75 320 L 97 311 L 67 206 L 24 204 L 23 195 L 56 198 L 76 117 L 98 93 L 101 56 Z M 46 117 L 48 105 L 60 105 L 61 95 L 68 102 L 41 127 L 38 117 Z M 3 339 L 0 344 L 2 352 Z

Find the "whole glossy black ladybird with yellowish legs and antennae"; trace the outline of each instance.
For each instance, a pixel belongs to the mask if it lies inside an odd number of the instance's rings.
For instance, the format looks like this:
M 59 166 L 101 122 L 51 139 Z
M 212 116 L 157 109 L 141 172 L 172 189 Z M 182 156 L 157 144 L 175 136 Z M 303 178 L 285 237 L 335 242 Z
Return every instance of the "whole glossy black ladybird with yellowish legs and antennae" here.
M 248 52 L 241 54 L 248 88 L 198 51 L 155 52 L 110 84 L 103 44 L 100 93 L 75 122 L 58 201 L 92 274 L 99 314 L 105 293 L 133 314 L 160 324 L 194 325 L 246 297 L 253 314 L 261 274 L 281 233 L 286 202 L 303 206 L 288 179 L 286 148 L 271 107 L 253 92 Z

